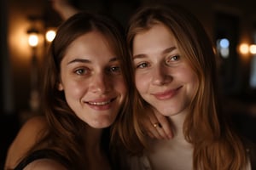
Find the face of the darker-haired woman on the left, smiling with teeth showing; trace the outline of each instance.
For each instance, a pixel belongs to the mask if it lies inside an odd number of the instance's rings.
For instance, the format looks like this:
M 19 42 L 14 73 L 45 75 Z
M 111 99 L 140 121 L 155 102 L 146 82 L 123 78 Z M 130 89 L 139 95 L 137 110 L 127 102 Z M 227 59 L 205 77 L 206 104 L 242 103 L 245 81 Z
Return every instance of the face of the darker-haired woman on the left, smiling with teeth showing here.
M 91 31 L 67 48 L 61 82 L 67 104 L 90 127 L 110 126 L 124 102 L 126 88 L 119 59 L 101 33 Z

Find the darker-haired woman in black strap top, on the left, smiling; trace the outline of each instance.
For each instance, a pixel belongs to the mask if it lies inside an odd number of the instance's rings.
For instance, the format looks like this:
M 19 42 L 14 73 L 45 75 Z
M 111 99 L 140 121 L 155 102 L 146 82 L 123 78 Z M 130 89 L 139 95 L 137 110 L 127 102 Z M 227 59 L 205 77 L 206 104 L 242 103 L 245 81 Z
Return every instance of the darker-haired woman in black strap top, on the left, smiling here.
M 66 20 L 45 56 L 44 116 L 21 128 L 5 169 L 119 169 L 110 126 L 131 111 L 122 27 L 103 14 Z

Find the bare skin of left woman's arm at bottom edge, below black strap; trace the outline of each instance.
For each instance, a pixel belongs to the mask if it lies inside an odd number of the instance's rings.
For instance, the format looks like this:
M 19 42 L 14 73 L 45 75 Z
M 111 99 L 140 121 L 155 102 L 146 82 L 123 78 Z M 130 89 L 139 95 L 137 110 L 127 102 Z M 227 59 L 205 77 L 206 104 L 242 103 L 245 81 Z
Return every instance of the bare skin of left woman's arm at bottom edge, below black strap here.
M 29 163 L 24 170 L 67 170 L 66 167 L 61 165 L 58 161 L 51 159 L 39 159 Z

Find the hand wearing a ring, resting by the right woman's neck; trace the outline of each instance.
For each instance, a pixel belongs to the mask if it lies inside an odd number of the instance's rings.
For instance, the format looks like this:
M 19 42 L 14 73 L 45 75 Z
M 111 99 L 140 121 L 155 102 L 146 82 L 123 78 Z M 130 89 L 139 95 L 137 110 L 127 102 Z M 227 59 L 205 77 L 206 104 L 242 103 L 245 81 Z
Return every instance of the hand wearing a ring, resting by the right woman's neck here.
M 143 132 L 153 139 L 172 139 L 171 123 L 158 111 L 148 111 L 141 120 Z

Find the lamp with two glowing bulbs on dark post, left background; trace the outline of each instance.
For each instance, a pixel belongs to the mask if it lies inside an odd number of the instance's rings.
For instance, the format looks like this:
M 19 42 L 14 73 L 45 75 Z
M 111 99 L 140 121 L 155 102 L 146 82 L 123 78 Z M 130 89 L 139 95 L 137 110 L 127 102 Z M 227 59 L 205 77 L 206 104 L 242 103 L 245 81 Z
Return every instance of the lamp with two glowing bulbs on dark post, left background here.
M 31 26 L 26 31 L 27 42 L 32 51 L 30 65 L 30 97 L 28 104 L 32 113 L 38 113 L 40 108 L 39 94 L 39 59 L 46 54 L 50 42 L 55 38 L 55 27 L 45 28 L 45 20 L 40 16 L 28 16 Z M 41 43 L 43 40 L 44 43 Z M 43 46 L 42 46 L 43 45 Z

